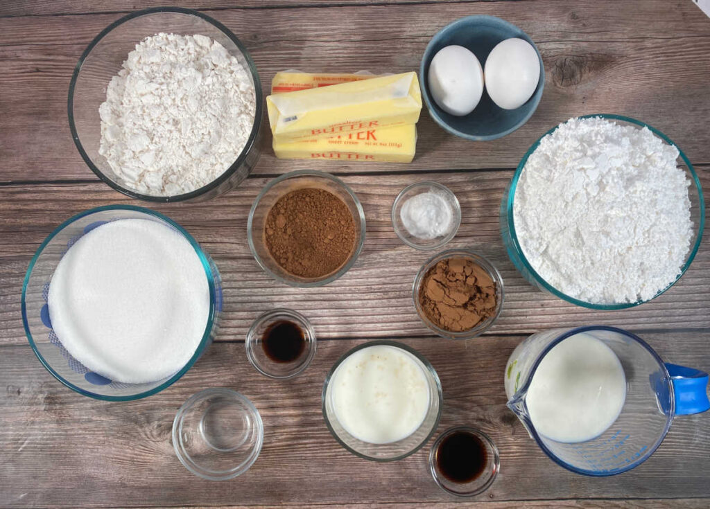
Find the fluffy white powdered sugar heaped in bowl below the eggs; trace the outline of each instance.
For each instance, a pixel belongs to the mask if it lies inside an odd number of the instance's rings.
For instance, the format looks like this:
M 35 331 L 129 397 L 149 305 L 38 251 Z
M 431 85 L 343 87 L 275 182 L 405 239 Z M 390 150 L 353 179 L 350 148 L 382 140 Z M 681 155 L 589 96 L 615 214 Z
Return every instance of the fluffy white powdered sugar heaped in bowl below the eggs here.
M 689 179 L 650 130 L 563 123 L 520 174 L 513 220 L 535 271 L 590 303 L 647 300 L 680 274 L 692 238 Z

